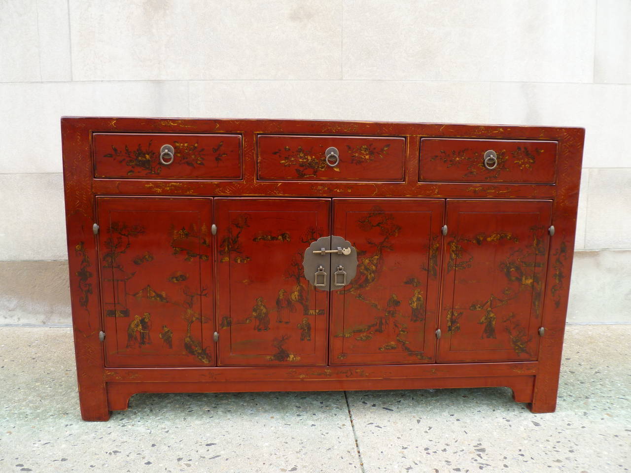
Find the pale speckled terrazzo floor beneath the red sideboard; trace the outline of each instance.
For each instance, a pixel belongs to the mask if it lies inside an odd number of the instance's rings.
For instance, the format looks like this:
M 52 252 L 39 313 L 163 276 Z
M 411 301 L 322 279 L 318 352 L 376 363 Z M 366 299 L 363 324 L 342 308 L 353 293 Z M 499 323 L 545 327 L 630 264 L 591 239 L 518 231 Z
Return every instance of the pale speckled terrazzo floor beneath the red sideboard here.
M 505 388 L 143 394 L 87 423 L 71 329 L 0 327 L 0 472 L 625 472 L 630 339 L 568 327 L 554 414 Z

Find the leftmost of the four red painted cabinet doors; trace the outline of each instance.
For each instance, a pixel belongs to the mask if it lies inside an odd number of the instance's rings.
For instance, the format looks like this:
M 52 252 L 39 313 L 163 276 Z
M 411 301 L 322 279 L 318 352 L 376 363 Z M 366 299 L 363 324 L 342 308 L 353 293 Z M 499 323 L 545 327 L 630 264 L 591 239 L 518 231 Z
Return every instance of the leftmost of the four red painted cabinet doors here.
M 107 366 L 215 365 L 212 199 L 97 197 Z

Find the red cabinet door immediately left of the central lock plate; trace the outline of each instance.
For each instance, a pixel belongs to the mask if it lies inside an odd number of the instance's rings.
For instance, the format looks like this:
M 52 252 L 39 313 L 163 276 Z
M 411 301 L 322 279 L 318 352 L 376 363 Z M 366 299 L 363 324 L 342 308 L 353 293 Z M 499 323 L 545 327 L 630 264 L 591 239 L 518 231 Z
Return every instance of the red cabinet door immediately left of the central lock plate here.
M 219 364 L 326 365 L 328 293 L 304 277 L 329 199 L 215 199 Z

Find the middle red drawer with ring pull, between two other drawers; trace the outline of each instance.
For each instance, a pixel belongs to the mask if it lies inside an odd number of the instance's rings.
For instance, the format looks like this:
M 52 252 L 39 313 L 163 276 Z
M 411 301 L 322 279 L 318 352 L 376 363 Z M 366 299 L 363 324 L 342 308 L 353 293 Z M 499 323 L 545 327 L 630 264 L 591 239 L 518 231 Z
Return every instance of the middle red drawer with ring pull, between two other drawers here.
M 261 180 L 402 181 L 404 168 L 402 137 L 261 135 L 258 139 Z

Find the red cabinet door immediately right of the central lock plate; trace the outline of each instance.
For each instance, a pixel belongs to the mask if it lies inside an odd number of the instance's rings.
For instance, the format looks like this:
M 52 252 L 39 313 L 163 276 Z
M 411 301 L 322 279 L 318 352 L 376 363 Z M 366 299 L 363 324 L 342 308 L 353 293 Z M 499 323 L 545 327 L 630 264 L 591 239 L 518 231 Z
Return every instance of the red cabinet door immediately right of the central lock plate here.
M 335 199 L 333 235 L 358 255 L 331 293 L 329 363 L 432 363 L 444 201 Z

